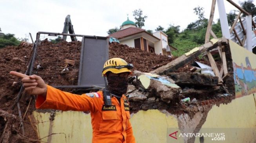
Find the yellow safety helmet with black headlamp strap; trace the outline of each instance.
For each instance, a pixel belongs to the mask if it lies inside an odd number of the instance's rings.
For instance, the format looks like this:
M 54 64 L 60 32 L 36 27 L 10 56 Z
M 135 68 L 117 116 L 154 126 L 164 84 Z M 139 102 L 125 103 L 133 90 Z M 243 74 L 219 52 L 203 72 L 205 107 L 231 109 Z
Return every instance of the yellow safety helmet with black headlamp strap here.
M 105 62 L 102 70 L 102 76 L 106 76 L 105 74 L 108 71 L 111 71 L 113 73 L 129 72 L 131 74 L 132 68 L 133 64 L 127 64 L 125 60 L 115 57 Z

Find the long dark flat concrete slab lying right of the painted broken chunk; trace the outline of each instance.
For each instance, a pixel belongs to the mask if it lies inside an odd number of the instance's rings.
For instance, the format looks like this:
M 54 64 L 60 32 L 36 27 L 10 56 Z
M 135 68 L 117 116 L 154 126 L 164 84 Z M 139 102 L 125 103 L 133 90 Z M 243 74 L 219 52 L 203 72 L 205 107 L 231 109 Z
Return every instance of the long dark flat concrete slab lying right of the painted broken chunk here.
M 218 77 L 197 73 L 167 73 L 177 85 L 216 86 Z

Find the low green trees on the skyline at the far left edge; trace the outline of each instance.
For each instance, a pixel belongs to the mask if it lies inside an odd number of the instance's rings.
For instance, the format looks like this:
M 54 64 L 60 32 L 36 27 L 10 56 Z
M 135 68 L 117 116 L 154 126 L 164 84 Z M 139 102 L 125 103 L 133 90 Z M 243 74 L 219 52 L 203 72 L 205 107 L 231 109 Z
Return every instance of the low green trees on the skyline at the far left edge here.
M 20 44 L 20 41 L 14 37 L 14 34 L 4 34 L 0 36 L 0 48 L 5 46 L 17 46 Z

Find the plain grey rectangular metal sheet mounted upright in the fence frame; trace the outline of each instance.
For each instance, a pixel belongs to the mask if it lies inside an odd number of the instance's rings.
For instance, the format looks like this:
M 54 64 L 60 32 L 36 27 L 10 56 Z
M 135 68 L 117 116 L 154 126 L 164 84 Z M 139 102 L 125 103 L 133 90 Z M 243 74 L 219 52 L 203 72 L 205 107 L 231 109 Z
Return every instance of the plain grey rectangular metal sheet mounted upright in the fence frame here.
M 109 59 L 107 38 L 83 37 L 78 86 L 104 86 L 102 68 Z

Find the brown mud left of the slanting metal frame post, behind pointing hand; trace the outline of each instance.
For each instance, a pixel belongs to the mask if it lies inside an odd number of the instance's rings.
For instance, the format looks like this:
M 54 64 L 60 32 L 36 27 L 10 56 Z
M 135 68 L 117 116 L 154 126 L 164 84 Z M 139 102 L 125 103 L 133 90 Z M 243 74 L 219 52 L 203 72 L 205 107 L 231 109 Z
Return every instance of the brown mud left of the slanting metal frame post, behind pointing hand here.
M 0 142 L 3 143 L 28 141 L 28 138 L 22 137 L 20 132 L 20 118 L 17 105 L 15 105 L 15 100 L 20 90 L 20 80 L 9 75 L 9 71 L 24 73 L 31 50 L 32 45 L 28 43 L 21 43 L 19 46 L 6 46 L 0 49 Z M 20 100 L 22 118 L 26 110 L 27 114 L 34 110 L 34 102 L 31 101 L 29 105 L 30 98 L 25 97 Z M 31 128 L 27 114 L 24 116 L 23 122 L 26 129 L 25 136 L 36 139 L 36 133 Z

